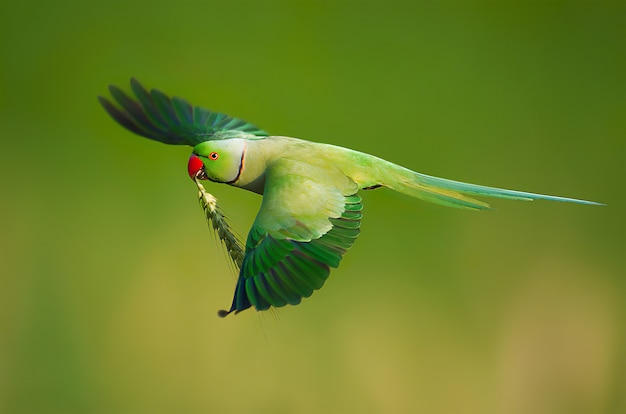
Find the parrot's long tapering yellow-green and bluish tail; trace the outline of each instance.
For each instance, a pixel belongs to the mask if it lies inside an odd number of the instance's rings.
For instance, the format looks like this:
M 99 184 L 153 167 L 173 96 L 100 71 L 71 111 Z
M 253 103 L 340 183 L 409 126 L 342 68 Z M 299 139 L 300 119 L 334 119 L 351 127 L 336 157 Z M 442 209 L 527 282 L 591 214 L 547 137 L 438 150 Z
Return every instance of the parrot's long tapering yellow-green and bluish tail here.
M 472 196 L 524 201 L 551 200 L 577 204 L 602 205 L 601 203 L 578 200 L 575 198 L 557 197 L 468 184 L 460 181 L 447 180 L 445 178 L 432 177 L 411 171 L 396 164 L 392 165 L 393 167 L 387 170 L 389 172 L 389 176 L 387 177 L 388 179 L 383 179 L 384 182 L 381 183 L 382 185 L 412 197 L 417 197 L 425 201 L 449 207 L 466 208 L 471 210 L 490 209 L 489 204 L 484 201 L 476 200 Z

